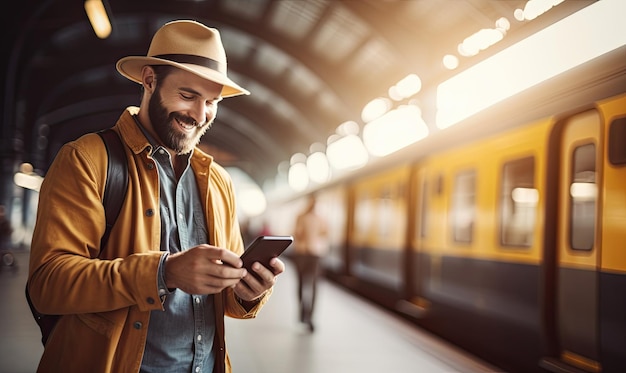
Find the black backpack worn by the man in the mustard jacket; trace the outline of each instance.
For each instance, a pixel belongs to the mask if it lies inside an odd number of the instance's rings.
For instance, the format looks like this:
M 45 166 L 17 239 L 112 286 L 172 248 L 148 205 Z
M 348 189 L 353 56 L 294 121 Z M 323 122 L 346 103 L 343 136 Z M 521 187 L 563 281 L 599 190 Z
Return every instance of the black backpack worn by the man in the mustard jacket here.
M 128 163 L 122 140 L 115 131 L 109 128 L 98 132 L 98 135 L 100 135 L 104 142 L 109 158 L 106 184 L 104 186 L 104 197 L 102 200 L 106 215 L 106 229 L 100 240 L 100 248 L 102 249 L 109 239 L 111 229 L 120 213 L 122 202 L 124 201 L 126 190 L 128 189 Z M 41 343 L 45 346 L 48 336 L 52 332 L 52 329 L 54 329 L 59 318 L 61 318 L 61 315 L 45 315 L 37 311 L 28 293 L 28 283 L 26 283 L 25 291 L 30 311 L 41 330 Z

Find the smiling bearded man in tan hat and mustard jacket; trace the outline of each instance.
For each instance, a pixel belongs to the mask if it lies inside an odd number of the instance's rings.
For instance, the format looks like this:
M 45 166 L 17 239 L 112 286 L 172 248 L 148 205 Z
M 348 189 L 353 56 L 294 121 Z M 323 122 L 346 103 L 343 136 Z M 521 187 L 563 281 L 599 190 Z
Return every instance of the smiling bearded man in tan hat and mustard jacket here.
M 38 371 L 230 372 L 224 315 L 255 317 L 284 264 L 255 263 L 262 280 L 242 268 L 231 179 L 196 145 L 218 102 L 249 92 L 227 77 L 219 32 L 194 21 L 167 23 L 117 69 L 143 95 L 113 127 L 129 185 L 107 245 L 97 134 L 63 146 L 41 187 L 30 295 L 63 317 Z

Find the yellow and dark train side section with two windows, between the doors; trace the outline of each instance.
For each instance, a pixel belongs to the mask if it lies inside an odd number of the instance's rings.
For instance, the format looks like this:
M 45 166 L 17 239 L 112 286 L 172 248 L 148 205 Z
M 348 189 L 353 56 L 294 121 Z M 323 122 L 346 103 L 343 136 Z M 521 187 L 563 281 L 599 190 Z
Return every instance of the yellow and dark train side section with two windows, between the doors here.
M 420 162 L 413 247 L 425 327 L 510 370 L 537 371 L 548 120 Z M 512 336 L 515 336 L 512 338 Z M 527 362 L 520 366 L 519 362 Z

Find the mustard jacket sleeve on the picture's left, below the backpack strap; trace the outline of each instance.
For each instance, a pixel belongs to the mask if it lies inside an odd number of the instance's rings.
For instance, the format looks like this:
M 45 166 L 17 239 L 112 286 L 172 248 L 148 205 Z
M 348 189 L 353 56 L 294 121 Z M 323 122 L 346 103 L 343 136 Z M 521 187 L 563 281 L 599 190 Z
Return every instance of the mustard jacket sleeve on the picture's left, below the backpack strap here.
M 156 273 L 161 253 L 125 256 L 124 250 L 131 252 L 125 248 L 115 259 L 97 258 L 105 229 L 106 163 L 102 141 L 90 134 L 64 145 L 45 176 L 29 268 L 29 291 L 40 312 L 161 307 L 160 302 L 150 300 L 158 294 Z

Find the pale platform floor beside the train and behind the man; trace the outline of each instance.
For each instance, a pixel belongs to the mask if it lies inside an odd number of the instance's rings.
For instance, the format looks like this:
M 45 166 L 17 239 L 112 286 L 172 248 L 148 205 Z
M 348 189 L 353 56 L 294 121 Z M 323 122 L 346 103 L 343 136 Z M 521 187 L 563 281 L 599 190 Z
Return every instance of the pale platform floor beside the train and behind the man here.
M 0 373 L 33 373 L 43 351 L 24 299 L 28 251 L 0 267 Z M 281 275 L 254 320 L 226 319 L 234 373 L 470 373 L 489 364 L 322 280 L 315 332 L 298 322 L 295 274 Z

